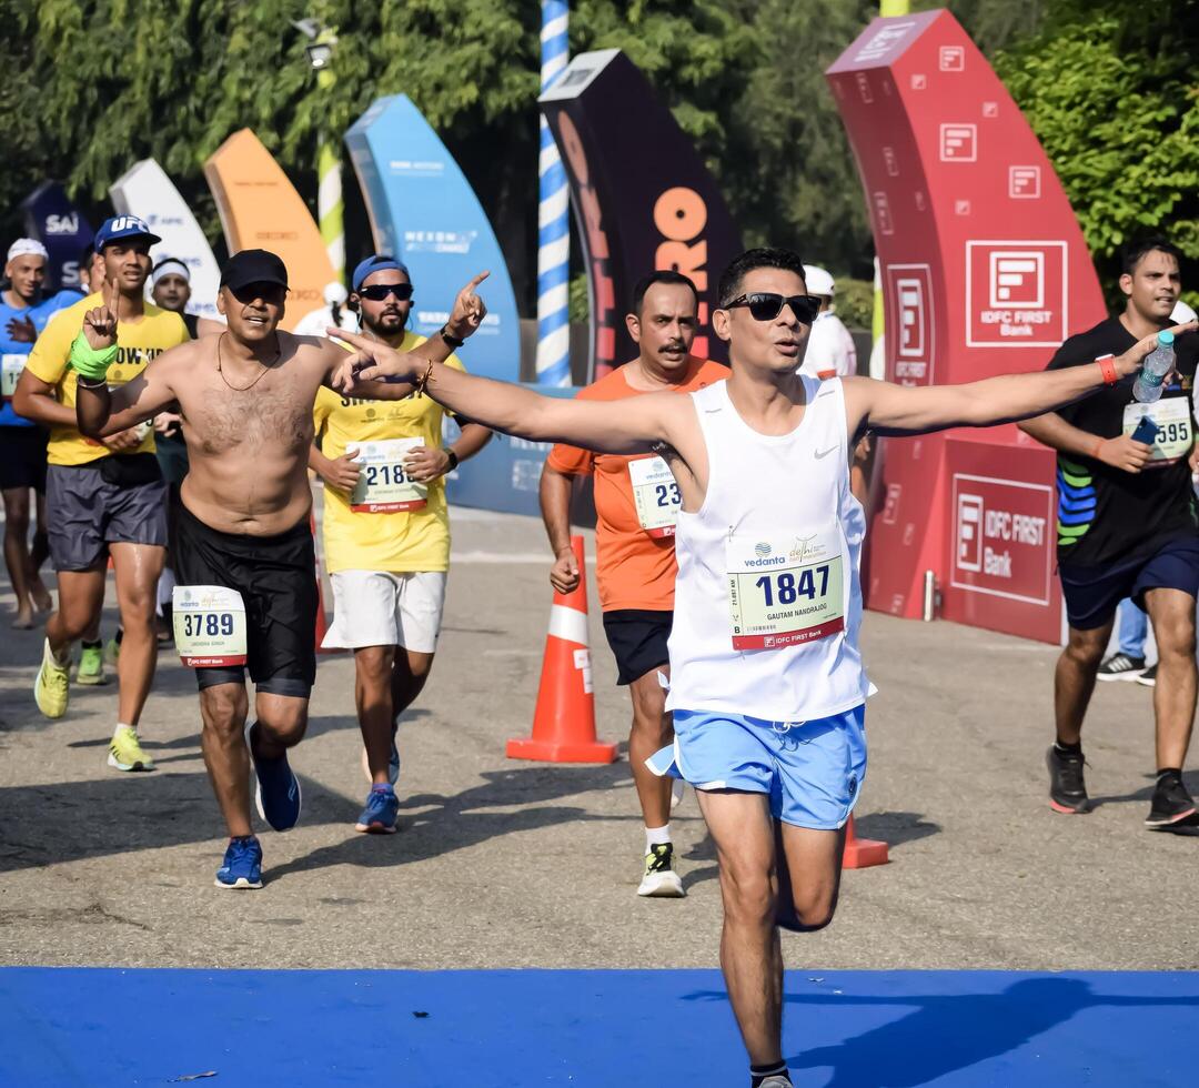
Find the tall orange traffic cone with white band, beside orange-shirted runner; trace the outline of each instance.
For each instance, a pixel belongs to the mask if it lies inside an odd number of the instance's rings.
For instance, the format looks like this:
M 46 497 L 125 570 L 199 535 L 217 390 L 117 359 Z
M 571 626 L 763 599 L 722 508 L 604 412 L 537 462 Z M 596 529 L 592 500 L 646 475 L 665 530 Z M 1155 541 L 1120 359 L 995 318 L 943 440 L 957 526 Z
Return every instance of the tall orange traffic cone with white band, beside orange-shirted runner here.
M 616 745 L 596 740 L 596 699 L 591 691 L 591 651 L 588 649 L 588 581 L 583 537 L 572 536 L 579 584 L 554 591 L 549 635 L 541 665 L 541 687 L 532 719 L 532 737 L 508 741 L 510 759 L 547 763 L 611 763 Z

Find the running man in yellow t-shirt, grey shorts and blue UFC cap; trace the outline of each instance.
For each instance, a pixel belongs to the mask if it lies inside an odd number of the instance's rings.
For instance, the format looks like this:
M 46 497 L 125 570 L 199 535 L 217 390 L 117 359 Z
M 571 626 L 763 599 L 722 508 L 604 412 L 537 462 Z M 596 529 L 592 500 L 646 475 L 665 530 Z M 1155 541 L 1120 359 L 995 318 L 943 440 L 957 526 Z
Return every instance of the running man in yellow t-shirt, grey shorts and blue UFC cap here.
M 155 587 L 167 548 L 167 485 L 147 423 L 102 441 L 79 433 L 78 375 L 68 362 L 84 314 L 106 302 L 119 319 L 119 354 L 108 368 L 109 387 L 132 381 L 156 355 L 188 339 L 177 313 L 145 301 L 150 246 L 157 241 L 137 216 L 104 222 L 96 234 L 96 252 L 104 260 L 103 291 L 55 314 L 34 345 L 13 396 L 20 415 L 50 428 L 46 509 L 59 609 L 46 626 L 34 695 L 47 717 L 66 714 L 71 644 L 95 627 L 112 555 L 125 629 L 118 665 L 118 725 L 108 753 L 108 765 L 116 770 L 153 768 L 138 741 L 137 726 L 157 655 Z

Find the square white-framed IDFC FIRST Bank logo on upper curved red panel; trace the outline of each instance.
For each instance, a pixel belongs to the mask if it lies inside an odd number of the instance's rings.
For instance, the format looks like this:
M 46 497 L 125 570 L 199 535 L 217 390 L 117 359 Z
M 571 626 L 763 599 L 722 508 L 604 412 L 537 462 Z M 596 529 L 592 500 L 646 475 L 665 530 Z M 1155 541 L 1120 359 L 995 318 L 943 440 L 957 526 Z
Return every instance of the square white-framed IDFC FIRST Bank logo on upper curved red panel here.
M 1056 348 L 1070 327 L 1066 242 L 966 242 L 966 345 Z

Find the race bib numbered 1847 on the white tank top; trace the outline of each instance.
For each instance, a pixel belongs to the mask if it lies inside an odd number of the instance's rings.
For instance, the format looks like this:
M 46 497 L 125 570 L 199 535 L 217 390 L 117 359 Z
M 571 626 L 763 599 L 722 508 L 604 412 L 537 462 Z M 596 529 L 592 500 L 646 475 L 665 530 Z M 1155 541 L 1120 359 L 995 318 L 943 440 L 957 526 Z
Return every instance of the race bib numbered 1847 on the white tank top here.
M 836 529 L 733 537 L 725 558 L 733 649 L 777 650 L 844 630 Z

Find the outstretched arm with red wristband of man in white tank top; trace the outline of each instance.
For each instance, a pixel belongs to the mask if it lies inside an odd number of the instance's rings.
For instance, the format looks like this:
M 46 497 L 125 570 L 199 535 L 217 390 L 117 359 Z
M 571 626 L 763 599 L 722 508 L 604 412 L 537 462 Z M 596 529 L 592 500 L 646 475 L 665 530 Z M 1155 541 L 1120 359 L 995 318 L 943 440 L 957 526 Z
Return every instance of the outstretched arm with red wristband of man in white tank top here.
M 1174 333 L 1192 332 L 1195 321 L 1175 325 Z M 1133 344 L 1123 355 L 1104 360 L 1114 375 L 1127 378 L 1140 369 L 1157 345 L 1157 333 Z M 947 427 L 992 427 L 1044 415 L 1096 392 L 1105 384 L 1103 363 L 1004 374 L 966 385 L 906 389 L 869 378 L 846 378 L 845 410 L 851 434 L 869 427 L 880 434 L 927 434 Z

